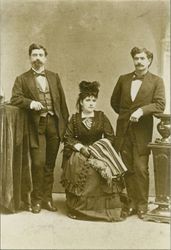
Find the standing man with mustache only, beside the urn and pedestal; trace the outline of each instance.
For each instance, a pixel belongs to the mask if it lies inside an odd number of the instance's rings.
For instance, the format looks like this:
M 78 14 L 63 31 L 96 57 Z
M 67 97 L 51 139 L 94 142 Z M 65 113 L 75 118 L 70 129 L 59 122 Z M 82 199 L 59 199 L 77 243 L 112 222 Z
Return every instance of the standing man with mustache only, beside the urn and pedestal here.
M 148 209 L 148 143 L 152 139 L 153 115 L 165 108 L 163 80 L 149 72 L 153 54 L 145 48 L 133 48 L 135 71 L 121 75 L 111 97 L 111 106 L 119 115 L 116 148 L 128 168 L 125 183 L 129 207 L 125 215 L 140 219 Z

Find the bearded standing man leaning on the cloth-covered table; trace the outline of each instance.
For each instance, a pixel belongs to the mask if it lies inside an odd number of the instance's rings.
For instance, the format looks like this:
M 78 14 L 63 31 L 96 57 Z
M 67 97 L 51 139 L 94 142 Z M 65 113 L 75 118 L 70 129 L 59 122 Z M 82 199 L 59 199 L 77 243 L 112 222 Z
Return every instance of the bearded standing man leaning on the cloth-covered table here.
M 56 211 L 52 201 L 53 174 L 68 121 L 68 108 L 58 74 L 45 69 L 47 50 L 32 44 L 29 57 L 32 67 L 16 78 L 11 103 L 28 112 L 33 181 L 31 210 L 39 213 L 43 207 Z

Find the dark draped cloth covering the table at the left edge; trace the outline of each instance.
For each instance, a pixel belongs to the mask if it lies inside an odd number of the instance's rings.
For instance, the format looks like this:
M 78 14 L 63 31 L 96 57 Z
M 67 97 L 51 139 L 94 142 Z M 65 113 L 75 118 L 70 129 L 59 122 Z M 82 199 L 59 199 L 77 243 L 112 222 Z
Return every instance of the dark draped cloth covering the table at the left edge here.
M 15 106 L 0 105 L 0 206 L 18 211 L 31 189 L 27 114 Z

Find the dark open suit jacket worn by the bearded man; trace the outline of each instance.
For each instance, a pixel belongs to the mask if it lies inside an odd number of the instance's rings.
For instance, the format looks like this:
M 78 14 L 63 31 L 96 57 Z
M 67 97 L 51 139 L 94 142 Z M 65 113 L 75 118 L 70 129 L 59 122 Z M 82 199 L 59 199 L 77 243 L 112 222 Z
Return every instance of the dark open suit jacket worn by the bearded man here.
M 69 116 L 65 95 L 58 74 L 48 70 L 45 70 L 45 74 L 49 83 L 54 112 L 58 118 L 59 137 L 62 141 Z M 37 147 L 40 112 L 30 109 L 30 103 L 33 100 L 40 101 L 33 71 L 29 70 L 16 78 L 12 89 L 11 104 L 28 111 L 30 144 L 31 147 Z

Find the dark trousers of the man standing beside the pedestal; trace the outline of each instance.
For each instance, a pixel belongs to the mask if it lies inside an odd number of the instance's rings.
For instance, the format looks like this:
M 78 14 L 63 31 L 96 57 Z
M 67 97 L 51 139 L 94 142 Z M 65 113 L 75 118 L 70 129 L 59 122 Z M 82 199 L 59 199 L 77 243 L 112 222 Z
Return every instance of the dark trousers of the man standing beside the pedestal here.
M 129 207 L 147 211 L 149 194 L 149 155 L 138 152 L 134 127 L 129 126 L 121 149 L 121 157 L 128 168 L 125 184 L 130 200 Z

